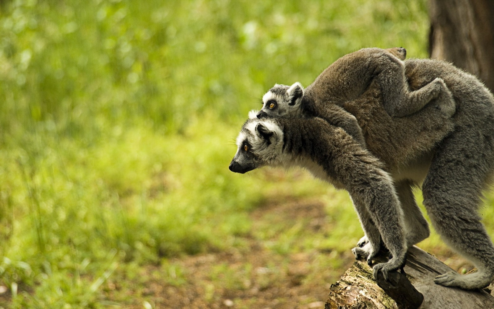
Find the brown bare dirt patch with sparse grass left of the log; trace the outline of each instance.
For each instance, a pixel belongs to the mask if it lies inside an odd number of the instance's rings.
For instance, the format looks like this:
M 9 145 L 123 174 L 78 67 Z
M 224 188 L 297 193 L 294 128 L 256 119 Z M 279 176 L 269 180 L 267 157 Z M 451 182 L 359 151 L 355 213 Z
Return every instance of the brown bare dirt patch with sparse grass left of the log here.
M 268 202 L 251 216 L 254 232 L 240 237 L 235 249 L 170 261 L 175 267 L 172 271 L 182 271 L 181 284 L 163 281 L 164 272 L 170 274 L 169 265 L 167 269 L 162 265 L 147 267 L 143 273 L 147 279 L 140 284 L 145 288 L 133 291 L 133 299 L 127 300 L 124 307 L 143 308 L 145 301 L 148 302 L 145 308 L 169 309 L 324 308 L 330 283 L 353 263 L 350 250 L 339 257 L 335 252 L 315 250 L 287 254 L 280 253 L 283 249 L 273 245 L 273 239 L 284 237 L 296 224 L 297 230 L 302 231 L 296 241 L 302 242 L 310 234 L 327 232 L 323 204 L 318 201 Z M 328 256 L 340 261 L 337 269 L 328 264 Z M 118 282 L 110 278 L 107 286 L 110 287 L 108 299 L 122 304 L 121 293 L 115 288 Z

